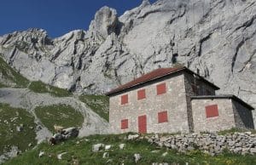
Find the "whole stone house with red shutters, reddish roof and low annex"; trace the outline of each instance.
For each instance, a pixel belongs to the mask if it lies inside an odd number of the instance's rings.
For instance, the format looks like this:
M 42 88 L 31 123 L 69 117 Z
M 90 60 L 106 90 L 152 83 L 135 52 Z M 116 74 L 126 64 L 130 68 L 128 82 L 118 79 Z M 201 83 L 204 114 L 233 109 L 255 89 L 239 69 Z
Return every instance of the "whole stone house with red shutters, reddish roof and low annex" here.
M 253 107 L 186 67 L 160 68 L 108 92 L 114 133 L 253 128 Z

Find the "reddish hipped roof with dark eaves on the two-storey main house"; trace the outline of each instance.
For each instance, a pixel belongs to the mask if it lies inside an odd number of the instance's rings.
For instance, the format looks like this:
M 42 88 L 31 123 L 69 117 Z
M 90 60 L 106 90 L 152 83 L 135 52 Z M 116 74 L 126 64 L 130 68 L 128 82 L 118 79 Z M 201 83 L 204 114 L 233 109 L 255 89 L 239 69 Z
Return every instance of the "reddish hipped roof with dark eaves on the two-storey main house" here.
M 216 85 L 214 85 L 213 83 L 208 82 L 206 79 L 204 79 L 203 77 L 199 76 L 198 74 L 196 74 L 193 71 L 190 71 L 187 67 L 181 66 L 181 67 L 172 67 L 172 68 L 159 68 L 156 69 L 154 71 L 151 71 L 145 75 L 143 75 L 142 77 L 138 77 L 135 80 L 132 80 L 129 83 L 125 83 L 124 85 L 119 86 L 118 88 L 113 88 L 111 91 L 109 91 L 107 93 L 107 95 L 111 95 L 111 94 L 116 94 L 122 90 L 125 90 L 127 88 L 131 88 L 131 87 L 135 87 L 139 84 L 142 83 L 147 83 L 149 81 L 161 78 L 161 77 L 166 77 L 168 75 L 171 75 L 173 73 L 179 72 L 179 71 L 188 71 L 190 74 L 195 74 L 196 76 L 200 77 L 202 81 L 210 84 L 213 88 L 215 89 L 219 89 Z

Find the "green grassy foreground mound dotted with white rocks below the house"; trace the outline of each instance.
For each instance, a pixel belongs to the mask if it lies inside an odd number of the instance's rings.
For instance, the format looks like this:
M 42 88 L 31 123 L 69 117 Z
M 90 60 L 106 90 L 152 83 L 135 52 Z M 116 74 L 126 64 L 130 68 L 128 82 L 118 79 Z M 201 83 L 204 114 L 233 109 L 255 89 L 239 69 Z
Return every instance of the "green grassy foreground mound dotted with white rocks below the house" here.
M 177 151 L 159 148 L 149 144 L 145 139 L 127 140 L 127 134 L 119 135 L 93 135 L 86 139 L 72 139 L 60 145 L 41 144 L 38 148 L 24 153 L 22 156 L 6 162 L 5 164 L 135 164 L 134 154 L 139 153 L 142 159 L 137 164 L 152 164 L 153 162 L 168 162 L 169 164 L 256 164 L 255 156 L 241 156 L 224 152 L 219 156 L 209 156 L 200 151 L 178 153 Z M 112 145 L 108 158 L 102 158 L 106 151 L 92 152 L 92 145 L 102 143 Z M 125 143 L 125 149 L 120 150 L 119 144 Z M 38 157 L 40 151 L 45 155 Z M 158 151 L 156 153 L 152 151 Z M 62 156 L 62 160 L 57 159 L 57 155 L 67 152 Z M 167 152 L 166 156 L 162 156 Z M 108 162 L 110 161 L 110 162 Z M 75 163 L 76 162 L 76 163 Z

